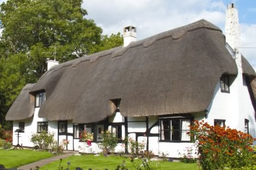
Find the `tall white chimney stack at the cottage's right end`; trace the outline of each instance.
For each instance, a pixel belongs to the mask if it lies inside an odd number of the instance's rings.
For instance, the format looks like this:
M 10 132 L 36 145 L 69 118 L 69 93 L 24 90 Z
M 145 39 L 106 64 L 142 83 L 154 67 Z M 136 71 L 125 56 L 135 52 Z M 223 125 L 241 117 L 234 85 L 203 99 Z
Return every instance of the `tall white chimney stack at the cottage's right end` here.
M 226 42 L 232 49 L 237 49 L 241 45 L 238 11 L 234 4 L 229 4 L 226 9 L 225 34 Z

